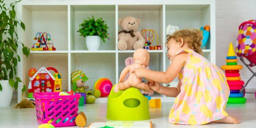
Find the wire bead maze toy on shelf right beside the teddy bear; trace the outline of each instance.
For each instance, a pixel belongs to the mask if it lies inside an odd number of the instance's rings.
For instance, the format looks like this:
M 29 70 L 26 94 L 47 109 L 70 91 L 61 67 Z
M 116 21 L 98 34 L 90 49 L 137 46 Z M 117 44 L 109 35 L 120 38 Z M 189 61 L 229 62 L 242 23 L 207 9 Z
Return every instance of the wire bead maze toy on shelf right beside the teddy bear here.
M 162 47 L 158 45 L 158 34 L 157 31 L 153 29 L 142 29 L 140 33 L 146 39 L 144 44 L 144 49 L 147 50 L 161 50 Z M 150 46 L 154 42 L 155 37 L 157 37 L 157 46 Z

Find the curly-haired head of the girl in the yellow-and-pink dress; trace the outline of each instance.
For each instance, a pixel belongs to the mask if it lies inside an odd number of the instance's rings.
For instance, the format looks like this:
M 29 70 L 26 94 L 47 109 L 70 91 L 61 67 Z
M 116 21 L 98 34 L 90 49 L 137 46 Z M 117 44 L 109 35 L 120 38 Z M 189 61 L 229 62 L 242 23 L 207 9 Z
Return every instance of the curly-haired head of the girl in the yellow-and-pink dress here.
M 178 30 L 172 35 L 167 36 L 167 56 L 171 60 L 175 54 L 181 49 L 192 49 L 197 53 L 201 53 L 203 35 L 197 29 L 192 30 Z

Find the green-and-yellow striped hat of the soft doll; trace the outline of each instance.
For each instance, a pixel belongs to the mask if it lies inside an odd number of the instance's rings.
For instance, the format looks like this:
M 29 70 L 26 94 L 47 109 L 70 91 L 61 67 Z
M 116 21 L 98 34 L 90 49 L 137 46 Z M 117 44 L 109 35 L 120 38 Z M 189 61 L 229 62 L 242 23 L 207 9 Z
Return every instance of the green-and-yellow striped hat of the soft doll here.
M 75 72 L 73 72 L 71 74 L 71 82 L 73 84 L 73 91 L 76 90 L 76 82 L 79 80 L 79 79 L 82 79 L 83 81 L 86 81 L 88 80 L 89 78 L 87 78 L 87 76 L 81 71 L 81 70 L 77 70 Z

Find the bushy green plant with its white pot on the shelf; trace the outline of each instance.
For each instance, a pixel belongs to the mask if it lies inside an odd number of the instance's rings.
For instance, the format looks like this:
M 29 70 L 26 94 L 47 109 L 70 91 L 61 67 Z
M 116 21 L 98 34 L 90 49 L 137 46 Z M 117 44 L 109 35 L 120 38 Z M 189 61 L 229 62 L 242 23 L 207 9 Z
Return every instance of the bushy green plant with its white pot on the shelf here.
M 108 37 L 108 25 L 102 18 L 94 19 L 92 18 L 84 19 L 83 23 L 79 25 L 78 32 L 80 36 L 85 37 L 86 46 L 88 50 L 99 50 L 99 45 L 101 43 L 100 39 L 105 43 Z

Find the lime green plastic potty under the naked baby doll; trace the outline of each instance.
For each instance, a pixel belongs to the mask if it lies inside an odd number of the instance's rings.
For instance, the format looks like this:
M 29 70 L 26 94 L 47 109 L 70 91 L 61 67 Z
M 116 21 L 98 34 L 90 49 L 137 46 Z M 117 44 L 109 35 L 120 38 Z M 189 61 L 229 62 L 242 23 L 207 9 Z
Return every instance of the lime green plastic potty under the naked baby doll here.
M 125 91 L 119 90 L 118 93 L 114 93 L 114 86 L 108 97 L 107 119 L 120 121 L 150 119 L 148 99 L 138 89 L 131 87 Z

